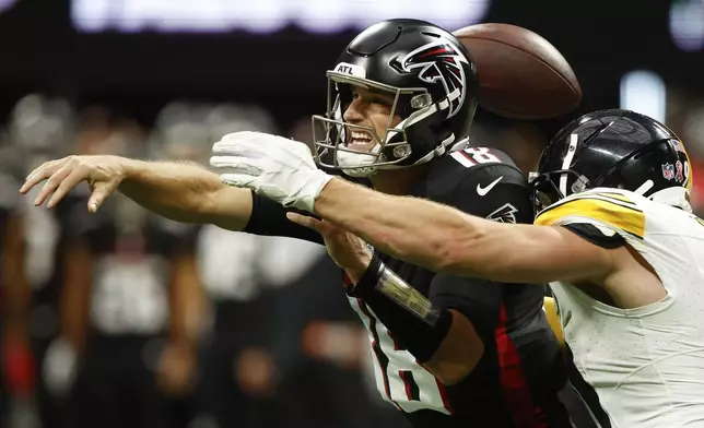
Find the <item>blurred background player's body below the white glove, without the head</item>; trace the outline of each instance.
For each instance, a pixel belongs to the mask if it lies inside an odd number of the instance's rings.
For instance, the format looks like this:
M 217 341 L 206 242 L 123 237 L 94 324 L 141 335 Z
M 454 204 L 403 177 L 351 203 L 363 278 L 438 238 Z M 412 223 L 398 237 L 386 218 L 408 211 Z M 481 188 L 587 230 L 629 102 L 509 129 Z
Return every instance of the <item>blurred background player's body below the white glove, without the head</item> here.
M 199 382 L 200 417 L 209 426 L 263 428 L 289 421 L 278 407 L 281 369 L 271 346 L 273 331 L 281 328 L 272 307 L 277 284 L 265 280 L 265 271 L 288 266 L 268 264 L 262 241 L 210 225 L 198 238 L 199 268 L 213 310 Z

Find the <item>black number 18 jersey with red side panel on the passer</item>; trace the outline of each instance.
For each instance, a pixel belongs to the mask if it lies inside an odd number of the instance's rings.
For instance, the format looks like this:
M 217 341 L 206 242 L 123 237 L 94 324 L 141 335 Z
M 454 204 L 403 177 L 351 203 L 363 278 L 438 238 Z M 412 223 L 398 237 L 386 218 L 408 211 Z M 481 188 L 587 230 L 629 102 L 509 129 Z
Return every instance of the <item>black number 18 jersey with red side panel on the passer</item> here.
M 470 147 L 433 160 L 425 179 L 409 193 L 496 222 L 533 221 L 525 177 L 505 154 L 494 150 Z M 317 233 L 289 222 L 284 213 L 280 205 L 255 194 L 244 231 L 321 242 Z M 571 426 L 558 399 L 566 384 L 565 366 L 542 311 L 542 287 L 438 274 L 379 255 L 433 305 L 467 317 L 485 347 L 465 380 L 444 385 L 399 346 L 394 332 L 363 300 L 350 297 L 369 332 L 378 390 L 413 426 Z

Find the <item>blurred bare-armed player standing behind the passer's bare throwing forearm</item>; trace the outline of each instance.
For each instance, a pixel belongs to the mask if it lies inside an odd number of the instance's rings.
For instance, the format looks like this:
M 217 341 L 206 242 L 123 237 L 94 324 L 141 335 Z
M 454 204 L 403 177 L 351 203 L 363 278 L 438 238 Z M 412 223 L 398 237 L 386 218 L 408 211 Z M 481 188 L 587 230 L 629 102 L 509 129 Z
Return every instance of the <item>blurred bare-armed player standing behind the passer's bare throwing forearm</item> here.
M 83 153 L 143 156 L 136 123 L 108 117 L 105 128 L 93 115 Z M 187 426 L 180 404 L 195 383 L 201 301 L 193 229 L 120 195 L 96 214 L 79 204 L 69 218 L 61 336 L 45 370 L 52 391 L 72 397 L 68 426 Z

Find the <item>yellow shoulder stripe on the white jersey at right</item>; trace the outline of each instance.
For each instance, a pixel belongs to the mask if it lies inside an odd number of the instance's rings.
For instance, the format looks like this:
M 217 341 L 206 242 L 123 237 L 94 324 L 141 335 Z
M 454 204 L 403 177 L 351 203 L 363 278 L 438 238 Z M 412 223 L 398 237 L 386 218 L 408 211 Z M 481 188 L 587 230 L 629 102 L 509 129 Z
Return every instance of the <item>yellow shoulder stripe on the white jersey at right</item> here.
M 535 224 L 551 226 L 561 218 L 568 216 L 592 218 L 611 227 L 625 230 L 638 238 L 645 236 L 645 215 L 643 212 L 634 203 L 625 202 L 621 199 L 611 199 L 603 193 L 570 198 L 563 203 L 548 207 L 538 214 Z

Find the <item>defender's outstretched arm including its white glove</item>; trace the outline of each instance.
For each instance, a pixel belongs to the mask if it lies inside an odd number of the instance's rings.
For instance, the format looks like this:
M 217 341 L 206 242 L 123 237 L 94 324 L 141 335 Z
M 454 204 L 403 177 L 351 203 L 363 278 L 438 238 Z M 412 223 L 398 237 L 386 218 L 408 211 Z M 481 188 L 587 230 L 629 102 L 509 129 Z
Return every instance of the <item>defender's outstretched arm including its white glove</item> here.
M 384 253 L 434 271 L 509 283 L 599 283 L 613 273 L 614 254 L 626 253 L 562 227 L 501 224 L 374 192 L 318 170 L 305 144 L 277 135 L 228 134 L 213 152 L 211 165 L 223 169 L 224 182 L 315 212 Z

